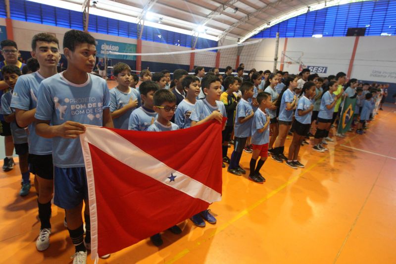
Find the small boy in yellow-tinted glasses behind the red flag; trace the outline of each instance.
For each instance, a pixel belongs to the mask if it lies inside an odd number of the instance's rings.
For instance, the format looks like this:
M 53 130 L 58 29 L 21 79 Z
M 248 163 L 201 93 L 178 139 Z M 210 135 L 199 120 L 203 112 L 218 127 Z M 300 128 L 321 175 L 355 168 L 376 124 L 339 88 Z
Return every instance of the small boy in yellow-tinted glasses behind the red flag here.
M 175 95 L 167 89 L 159 89 L 154 93 L 153 101 L 153 109 L 157 113 L 158 117 L 157 120 L 148 127 L 147 131 L 162 132 L 178 130 L 179 127 L 170 121 L 177 108 Z M 182 233 L 182 229 L 177 225 L 170 227 L 168 230 L 174 234 Z M 163 244 L 160 233 L 151 236 L 150 240 L 157 247 Z

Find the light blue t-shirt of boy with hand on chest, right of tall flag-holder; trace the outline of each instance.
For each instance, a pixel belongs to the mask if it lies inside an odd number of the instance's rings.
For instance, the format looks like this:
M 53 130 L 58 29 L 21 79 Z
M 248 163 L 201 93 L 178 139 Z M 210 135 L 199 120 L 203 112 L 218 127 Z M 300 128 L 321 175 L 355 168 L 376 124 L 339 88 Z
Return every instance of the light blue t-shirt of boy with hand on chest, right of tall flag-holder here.
M 131 98 L 133 101 L 138 100 L 138 106 L 128 109 L 128 111 L 117 118 L 113 118 L 114 128 L 128 129 L 128 121 L 132 111 L 140 107 L 142 103 L 140 93 L 136 89 L 129 88 L 129 93 L 121 92 L 117 87 L 110 90 L 110 112 L 114 112 L 128 105 Z

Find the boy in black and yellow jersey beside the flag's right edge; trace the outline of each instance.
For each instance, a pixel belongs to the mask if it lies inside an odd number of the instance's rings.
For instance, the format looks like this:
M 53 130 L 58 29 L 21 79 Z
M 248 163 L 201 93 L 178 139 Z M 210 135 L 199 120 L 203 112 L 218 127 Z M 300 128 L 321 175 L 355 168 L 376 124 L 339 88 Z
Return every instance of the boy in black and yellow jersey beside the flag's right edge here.
M 227 112 L 227 122 L 226 127 L 222 131 L 222 155 L 223 155 L 223 162 L 230 164 L 230 158 L 227 157 L 228 151 L 228 142 L 231 139 L 231 134 L 234 129 L 234 116 L 235 116 L 235 109 L 237 108 L 237 101 L 234 97 L 234 92 L 238 91 L 238 81 L 235 77 L 229 76 L 224 80 L 224 86 L 226 91 L 221 94 L 220 101 L 223 102 L 224 107 L 226 108 Z M 226 165 L 223 163 L 223 168 Z

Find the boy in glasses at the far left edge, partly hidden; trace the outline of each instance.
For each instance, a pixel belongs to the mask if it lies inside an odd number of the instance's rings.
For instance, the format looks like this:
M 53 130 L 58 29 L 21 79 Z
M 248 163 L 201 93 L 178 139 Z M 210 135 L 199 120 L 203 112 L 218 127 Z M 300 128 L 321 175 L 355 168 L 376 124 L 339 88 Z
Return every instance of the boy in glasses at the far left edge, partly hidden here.
M 4 57 L 3 61 L 0 61 L 0 69 L 6 65 L 15 65 L 19 69 L 25 66 L 18 60 L 18 47 L 16 43 L 12 40 L 3 40 L 0 43 L 1 55 Z M 9 91 L 9 86 L 4 82 L 3 75 L 0 70 L 0 100 L 3 94 Z M 14 168 L 14 160 L 12 159 L 12 154 L 14 153 L 14 142 L 12 141 L 11 129 L 9 123 L 4 121 L 4 117 L 0 114 L 0 135 L 4 137 L 4 147 L 5 147 L 5 158 L 3 164 L 3 171 L 9 171 Z

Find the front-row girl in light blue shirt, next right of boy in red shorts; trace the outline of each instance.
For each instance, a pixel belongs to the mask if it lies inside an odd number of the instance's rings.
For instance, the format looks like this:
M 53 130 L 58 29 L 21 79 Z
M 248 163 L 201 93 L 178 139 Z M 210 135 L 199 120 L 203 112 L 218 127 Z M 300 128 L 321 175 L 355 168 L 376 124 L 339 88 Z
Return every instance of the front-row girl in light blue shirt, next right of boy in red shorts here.
M 285 83 L 285 88 L 287 87 L 287 89 L 283 91 L 283 94 L 279 95 L 281 100 L 278 100 L 277 104 L 277 107 L 279 107 L 279 135 L 275 141 L 275 148 L 272 153 L 272 158 L 280 163 L 283 163 L 283 160 L 287 160 L 283 152 L 285 150 L 286 136 L 293 122 L 293 110 L 297 106 L 297 97 L 294 92 L 297 88 L 297 77 L 294 79 L 289 78 Z

